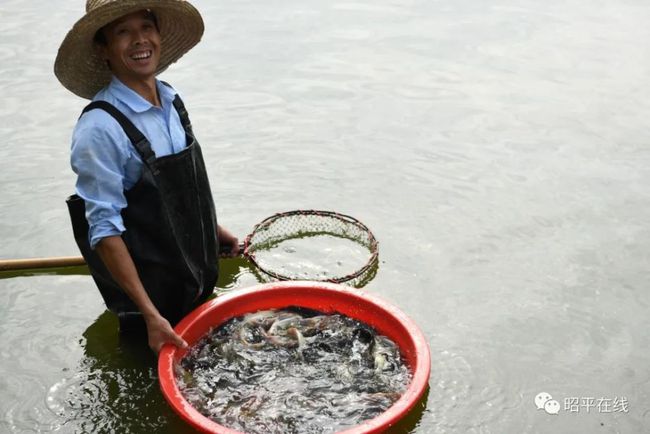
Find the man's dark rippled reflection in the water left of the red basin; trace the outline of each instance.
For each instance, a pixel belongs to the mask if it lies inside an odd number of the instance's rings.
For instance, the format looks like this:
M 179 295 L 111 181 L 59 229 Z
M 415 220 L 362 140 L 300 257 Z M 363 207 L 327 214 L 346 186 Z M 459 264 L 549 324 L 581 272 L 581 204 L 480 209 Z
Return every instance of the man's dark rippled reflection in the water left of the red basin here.
M 59 425 L 75 432 L 191 432 L 161 399 L 146 335 L 123 336 L 109 312 L 83 333 L 83 358 L 47 394 Z

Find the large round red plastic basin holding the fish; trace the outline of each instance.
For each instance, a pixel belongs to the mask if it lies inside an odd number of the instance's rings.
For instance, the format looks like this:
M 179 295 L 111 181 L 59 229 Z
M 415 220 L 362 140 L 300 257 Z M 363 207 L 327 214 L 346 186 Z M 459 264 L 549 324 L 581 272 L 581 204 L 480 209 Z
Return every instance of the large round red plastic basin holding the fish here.
M 431 369 L 429 346 L 418 326 L 386 301 L 358 289 L 323 282 L 276 282 L 219 296 L 199 306 L 175 330 L 191 346 L 210 328 L 231 318 L 258 310 L 300 306 L 324 313 L 339 312 L 374 327 L 399 347 L 413 378 L 406 392 L 374 419 L 342 431 L 345 434 L 378 433 L 406 416 L 427 388 Z M 166 345 L 158 357 L 158 376 L 163 395 L 187 423 L 206 433 L 240 434 L 208 419 L 192 407 L 176 384 L 174 363 L 186 350 Z

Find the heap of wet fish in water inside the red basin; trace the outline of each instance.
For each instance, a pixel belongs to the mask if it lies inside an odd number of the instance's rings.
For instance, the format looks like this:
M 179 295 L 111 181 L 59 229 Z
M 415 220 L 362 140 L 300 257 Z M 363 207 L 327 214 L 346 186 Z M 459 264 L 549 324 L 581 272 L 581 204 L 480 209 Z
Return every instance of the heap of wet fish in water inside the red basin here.
M 246 433 L 333 433 L 383 413 L 411 374 L 398 347 L 341 314 L 249 313 L 211 330 L 175 366 L 185 399 Z

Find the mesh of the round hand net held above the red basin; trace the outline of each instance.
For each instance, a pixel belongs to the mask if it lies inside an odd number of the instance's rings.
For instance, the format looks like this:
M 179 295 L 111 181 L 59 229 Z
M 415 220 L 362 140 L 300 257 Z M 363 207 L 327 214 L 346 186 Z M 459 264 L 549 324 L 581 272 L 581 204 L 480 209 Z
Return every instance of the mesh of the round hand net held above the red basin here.
M 265 260 L 264 255 L 268 257 L 269 254 L 282 248 L 286 250 L 287 241 L 301 240 L 312 246 L 318 246 L 315 240 L 319 237 L 329 237 L 330 241 L 345 240 L 353 243 L 356 246 L 356 261 L 349 264 L 346 263 L 348 258 L 338 258 L 336 266 L 331 266 L 327 270 L 317 270 L 319 267 L 310 268 L 308 265 L 290 269 L 284 266 L 286 264 L 280 264 L 278 261 L 273 263 Z M 255 226 L 253 232 L 246 238 L 245 246 L 246 256 L 267 276 L 265 280 L 319 280 L 360 287 L 365 285 L 377 270 L 377 241 L 372 232 L 353 217 L 331 211 L 299 210 L 275 214 Z M 327 246 L 321 247 L 321 251 L 316 252 L 316 257 L 310 260 L 323 261 L 325 250 L 330 249 Z M 338 252 L 338 254 L 342 253 Z M 287 262 L 291 258 L 280 259 L 282 260 Z

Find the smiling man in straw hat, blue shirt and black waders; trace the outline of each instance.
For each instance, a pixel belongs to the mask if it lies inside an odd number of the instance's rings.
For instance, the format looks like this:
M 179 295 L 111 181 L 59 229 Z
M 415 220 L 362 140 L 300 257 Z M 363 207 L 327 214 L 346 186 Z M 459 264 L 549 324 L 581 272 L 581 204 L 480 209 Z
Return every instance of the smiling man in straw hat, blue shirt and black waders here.
M 75 239 L 121 330 L 143 324 L 155 352 L 187 345 L 172 325 L 212 293 L 219 244 L 238 251 L 183 103 L 156 79 L 202 34 L 186 1 L 88 0 L 54 66 L 93 100 L 72 138 Z

